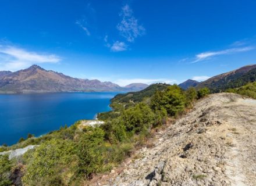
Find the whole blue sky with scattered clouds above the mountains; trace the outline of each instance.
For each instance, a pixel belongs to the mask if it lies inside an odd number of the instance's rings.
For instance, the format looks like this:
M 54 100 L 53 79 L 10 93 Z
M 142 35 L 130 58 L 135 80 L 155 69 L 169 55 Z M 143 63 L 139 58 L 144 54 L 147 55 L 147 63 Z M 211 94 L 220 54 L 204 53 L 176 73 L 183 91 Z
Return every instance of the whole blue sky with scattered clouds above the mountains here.
M 119 85 L 256 63 L 256 1 L 0 2 L 0 70 L 37 64 Z

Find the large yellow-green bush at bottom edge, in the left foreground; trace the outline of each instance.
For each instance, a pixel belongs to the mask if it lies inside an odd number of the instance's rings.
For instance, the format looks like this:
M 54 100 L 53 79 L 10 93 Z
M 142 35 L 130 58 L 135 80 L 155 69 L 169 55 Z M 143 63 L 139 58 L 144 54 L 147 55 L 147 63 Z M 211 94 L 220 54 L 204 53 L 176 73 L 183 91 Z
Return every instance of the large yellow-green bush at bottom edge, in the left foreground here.
M 27 160 L 25 185 L 66 185 L 76 166 L 74 142 L 50 140 L 38 146 Z

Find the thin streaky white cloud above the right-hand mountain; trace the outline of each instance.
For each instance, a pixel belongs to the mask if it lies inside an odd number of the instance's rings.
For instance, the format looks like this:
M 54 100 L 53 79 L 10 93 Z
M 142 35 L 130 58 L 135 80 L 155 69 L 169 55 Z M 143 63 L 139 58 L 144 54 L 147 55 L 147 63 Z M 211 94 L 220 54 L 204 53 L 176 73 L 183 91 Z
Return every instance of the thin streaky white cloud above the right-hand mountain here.
M 218 56 L 218 55 L 226 55 L 230 53 L 238 53 L 238 52 L 246 52 L 246 51 L 251 51 L 254 49 L 253 47 L 243 47 L 243 48 L 231 48 L 231 49 L 226 49 L 223 51 L 215 51 L 215 52 L 202 52 L 197 55 L 195 55 L 195 60 L 191 63 L 196 63 L 200 62 L 205 59 L 209 59 L 212 56 Z

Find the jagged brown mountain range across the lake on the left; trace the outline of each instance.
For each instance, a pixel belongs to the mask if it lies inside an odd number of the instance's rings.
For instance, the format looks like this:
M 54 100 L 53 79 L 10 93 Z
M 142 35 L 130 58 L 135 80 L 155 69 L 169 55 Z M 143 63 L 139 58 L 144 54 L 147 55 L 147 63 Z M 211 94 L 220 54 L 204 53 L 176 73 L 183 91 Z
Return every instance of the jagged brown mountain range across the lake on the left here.
M 15 72 L 0 71 L 0 93 L 72 92 L 72 91 L 133 91 L 111 82 L 73 78 L 33 65 Z

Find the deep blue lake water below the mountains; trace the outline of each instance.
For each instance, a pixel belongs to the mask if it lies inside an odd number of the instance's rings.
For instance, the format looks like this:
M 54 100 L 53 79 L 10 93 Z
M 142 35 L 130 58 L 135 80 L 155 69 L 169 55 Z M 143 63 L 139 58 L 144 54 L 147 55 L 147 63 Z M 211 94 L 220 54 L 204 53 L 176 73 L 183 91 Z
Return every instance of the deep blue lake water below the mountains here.
M 15 144 L 27 134 L 39 136 L 77 120 L 94 119 L 111 110 L 119 92 L 75 92 L 0 95 L 0 145 Z

